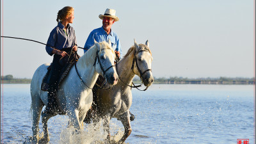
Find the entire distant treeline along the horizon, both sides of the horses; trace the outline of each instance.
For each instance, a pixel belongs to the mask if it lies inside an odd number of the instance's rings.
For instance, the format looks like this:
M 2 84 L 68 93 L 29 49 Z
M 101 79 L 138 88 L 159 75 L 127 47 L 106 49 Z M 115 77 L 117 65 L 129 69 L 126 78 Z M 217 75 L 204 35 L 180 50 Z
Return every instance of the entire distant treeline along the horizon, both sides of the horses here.
M 1 83 L 31 83 L 31 79 L 13 78 L 12 75 L 1 76 Z M 139 77 L 134 77 L 134 83 L 141 83 Z M 255 78 L 246 77 L 199 77 L 199 78 L 187 78 L 187 77 L 154 77 L 154 84 L 255 84 Z

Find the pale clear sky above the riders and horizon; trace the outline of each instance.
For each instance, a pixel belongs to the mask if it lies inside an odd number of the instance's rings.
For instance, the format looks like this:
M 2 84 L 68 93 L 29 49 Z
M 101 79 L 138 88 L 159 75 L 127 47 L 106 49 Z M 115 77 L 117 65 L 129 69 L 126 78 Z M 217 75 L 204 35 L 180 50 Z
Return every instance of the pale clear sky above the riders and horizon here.
M 1 0 L 1 36 L 46 43 L 64 6 L 75 9 L 71 26 L 79 47 L 102 26 L 99 14 L 115 9 L 120 20 L 112 30 L 120 38 L 123 55 L 134 38 L 138 44 L 148 40 L 154 77 L 255 76 L 253 0 Z M 83 55 L 83 49 L 78 53 Z M 1 76 L 31 78 L 52 58 L 45 45 L 1 38 Z

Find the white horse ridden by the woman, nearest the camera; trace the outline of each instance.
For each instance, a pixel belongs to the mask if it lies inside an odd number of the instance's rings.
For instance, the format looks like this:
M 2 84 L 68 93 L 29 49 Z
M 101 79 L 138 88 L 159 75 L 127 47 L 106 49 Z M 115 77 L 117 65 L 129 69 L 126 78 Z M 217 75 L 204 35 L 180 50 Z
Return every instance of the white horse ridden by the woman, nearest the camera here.
M 110 42 L 110 41 L 109 41 Z M 83 120 L 92 105 L 92 89 L 99 74 L 104 76 L 108 84 L 115 85 L 118 81 L 114 60 L 115 53 L 107 42 L 95 42 L 79 60 L 77 70 L 73 66 L 61 83 L 56 99 L 61 111 L 69 116 L 69 126 L 76 129 L 83 127 Z M 41 65 L 35 71 L 31 81 L 31 112 L 33 116 L 33 143 L 38 143 L 38 123 L 40 113 L 47 104 L 47 92 L 41 90 L 42 79 L 47 73 L 49 64 Z M 79 76 L 78 76 L 79 75 Z M 81 76 L 81 77 L 80 77 Z M 44 137 L 42 143 L 49 141 L 47 121 L 54 115 L 42 114 Z

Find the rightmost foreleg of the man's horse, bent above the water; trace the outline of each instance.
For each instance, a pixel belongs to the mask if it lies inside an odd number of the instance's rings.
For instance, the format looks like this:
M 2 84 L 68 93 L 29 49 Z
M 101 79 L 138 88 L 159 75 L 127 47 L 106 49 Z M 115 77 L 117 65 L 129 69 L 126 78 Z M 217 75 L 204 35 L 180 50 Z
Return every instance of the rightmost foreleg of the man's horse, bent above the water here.
M 129 111 L 120 116 L 120 121 L 124 125 L 124 136 L 118 141 L 118 143 L 124 143 L 132 132 Z

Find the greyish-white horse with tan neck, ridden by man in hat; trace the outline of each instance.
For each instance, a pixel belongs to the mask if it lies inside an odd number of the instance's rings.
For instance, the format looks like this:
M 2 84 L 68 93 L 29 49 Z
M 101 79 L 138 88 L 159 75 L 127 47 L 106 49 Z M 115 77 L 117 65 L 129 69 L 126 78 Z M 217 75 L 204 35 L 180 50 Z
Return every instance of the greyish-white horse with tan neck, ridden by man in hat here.
M 131 134 L 129 108 L 132 104 L 131 84 L 134 76 L 139 76 L 147 87 L 154 81 L 151 70 L 152 53 L 148 46 L 148 41 L 146 45 L 138 45 L 134 40 L 134 46 L 116 65 L 118 83 L 113 86 L 113 89 L 96 91 L 96 103 L 99 110 L 92 111 L 92 121 L 97 124 L 103 118 L 104 131 L 108 132 L 107 141 L 110 140 L 109 121 L 111 118 L 120 119 L 124 125 L 124 136 L 118 143 L 123 143 Z

